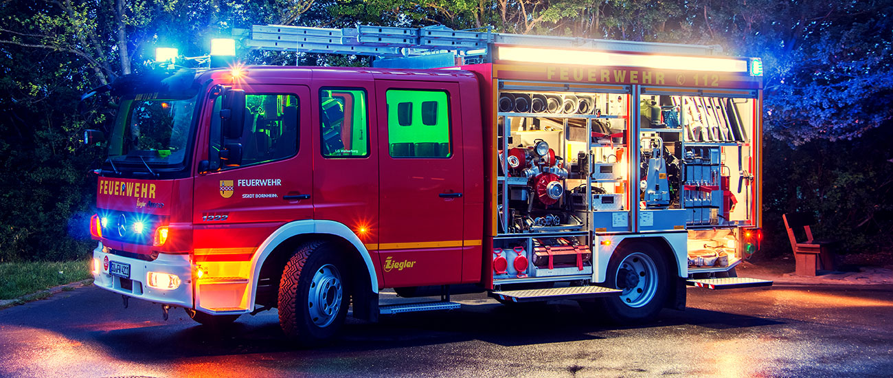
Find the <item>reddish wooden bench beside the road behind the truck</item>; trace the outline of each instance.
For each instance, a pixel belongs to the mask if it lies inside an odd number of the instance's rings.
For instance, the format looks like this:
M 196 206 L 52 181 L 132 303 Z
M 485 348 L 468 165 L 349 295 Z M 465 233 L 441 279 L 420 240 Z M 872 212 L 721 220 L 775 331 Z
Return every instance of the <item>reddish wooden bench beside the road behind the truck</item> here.
M 810 226 L 815 225 L 812 214 L 792 213 L 783 214 L 784 226 L 788 229 L 790 248 L 794 250 L 794 259 L 797 262 L 797 275 L 814 276 L 817 269 L 833 271 L 834 255 L 831 247 L 837 240 L 816 240 Z M 803 229 L 805 240 L 797 241 L 795 230 Z

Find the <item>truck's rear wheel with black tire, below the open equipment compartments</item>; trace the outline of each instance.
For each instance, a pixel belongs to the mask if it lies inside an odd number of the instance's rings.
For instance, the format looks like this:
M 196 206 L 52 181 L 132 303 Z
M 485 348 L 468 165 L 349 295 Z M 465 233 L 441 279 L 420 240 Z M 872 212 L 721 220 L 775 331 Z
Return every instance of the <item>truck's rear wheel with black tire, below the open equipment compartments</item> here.
M 580 301 L 580 307 L 607 315 L 614 323 L 653 321 L 670 294 L 666 257 L 646 242 L 632 242 L 614 253 L 605 286 L 621 289 L 618 297 Z

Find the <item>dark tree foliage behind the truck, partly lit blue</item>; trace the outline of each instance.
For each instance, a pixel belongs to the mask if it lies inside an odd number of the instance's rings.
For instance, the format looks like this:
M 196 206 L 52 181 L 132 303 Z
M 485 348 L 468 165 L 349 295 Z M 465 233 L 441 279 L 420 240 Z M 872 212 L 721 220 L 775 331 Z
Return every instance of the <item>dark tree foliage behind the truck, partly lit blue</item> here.
M 0 261 L 78 256 L 98 157 L 79 95 L 144 70 L 156 46 L 204 55 L 252 24 L 357 24 L 723 46 L 764 59 L 767 224 L 809 210 L 867 248 L 890 234 L 893 4 L 816 0 L 11 0 L 0 4 Z M 369 58 L 245 51 L 247 63 Z M 866 137 L 861 137 L 862 135 Z M 864 158 L 864 157 L 870 158 Z M 780 163 L 780 164 L 776 164 Z M 796 178 L 796 179 L 791 179 Z M 880 244 L 875 244 L 880 245 Z

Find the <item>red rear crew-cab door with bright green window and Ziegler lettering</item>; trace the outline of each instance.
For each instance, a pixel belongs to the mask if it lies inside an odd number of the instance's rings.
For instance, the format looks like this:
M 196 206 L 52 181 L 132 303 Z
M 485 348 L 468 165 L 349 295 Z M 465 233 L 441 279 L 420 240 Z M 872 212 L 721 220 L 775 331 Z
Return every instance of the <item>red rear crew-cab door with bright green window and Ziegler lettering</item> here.
M 463 154 L 458 85 L 377 80 L 379 259 L 385 286 L 461 281 Z

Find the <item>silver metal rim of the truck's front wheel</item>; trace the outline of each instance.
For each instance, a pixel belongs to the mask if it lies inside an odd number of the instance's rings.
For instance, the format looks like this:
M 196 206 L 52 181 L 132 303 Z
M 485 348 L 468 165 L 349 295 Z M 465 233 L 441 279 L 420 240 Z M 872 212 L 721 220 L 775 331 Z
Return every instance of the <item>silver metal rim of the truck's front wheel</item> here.
M 307 296 L 307 309 L 313 323 L 319 327 L 327 327 L 341 310 L 341 298 L 344 288 L 341 273 L 335 265 L 322 265 L 313 274 L 310 282 L 310 295 Z

